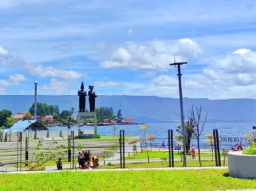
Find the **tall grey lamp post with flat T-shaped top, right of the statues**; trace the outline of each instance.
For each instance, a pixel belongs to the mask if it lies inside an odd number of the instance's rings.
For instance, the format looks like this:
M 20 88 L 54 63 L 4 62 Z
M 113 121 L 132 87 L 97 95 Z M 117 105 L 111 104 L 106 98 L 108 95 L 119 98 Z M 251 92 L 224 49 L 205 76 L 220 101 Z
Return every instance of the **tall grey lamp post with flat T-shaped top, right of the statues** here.
M 180 111 L 181 111 L 181 124 L 182 124 L 182 134 L 183 134 L 183 156 L 184 156 L 184 167 L 186 167 L 186 148 L 185 148 L 185 126 L 184 126 L 184 108 L 183 108 L 183 93 L 182 93 L 182 82 L 181 82 L 181 65 L 187 64 L 187 62 L 174 62 L 170 65 L 174 65 L 178 68 L 178 82 L 179 82 L 179 97 L 180 97 Z

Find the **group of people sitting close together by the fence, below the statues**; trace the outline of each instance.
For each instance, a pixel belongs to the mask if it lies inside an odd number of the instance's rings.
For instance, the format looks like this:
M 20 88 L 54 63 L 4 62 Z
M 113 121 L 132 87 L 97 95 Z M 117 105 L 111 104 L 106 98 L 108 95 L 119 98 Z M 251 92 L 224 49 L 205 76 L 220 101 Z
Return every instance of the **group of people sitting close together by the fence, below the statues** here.
M 89 169 L 90 168 L 91 159 L 92 159 L 92 163 L 93 163 L 93 165 L 91 166 L 92 168 L 96 168 L 97 166 L 99 166 L 97 156 L 93 156 L 91 158 L 90 151 L 80 151 L 78 153 L 79 168 L 80 169 Z

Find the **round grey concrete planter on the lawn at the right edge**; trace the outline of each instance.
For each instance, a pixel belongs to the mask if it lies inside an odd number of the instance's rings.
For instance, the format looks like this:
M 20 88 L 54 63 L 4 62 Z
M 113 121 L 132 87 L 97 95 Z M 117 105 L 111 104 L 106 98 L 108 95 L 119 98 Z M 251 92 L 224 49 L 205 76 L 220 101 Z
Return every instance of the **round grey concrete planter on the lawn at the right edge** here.
M 256 178 L 256 156 L 242 154 L 242 151 L 228 153 L 228 171 L 231 177 Z

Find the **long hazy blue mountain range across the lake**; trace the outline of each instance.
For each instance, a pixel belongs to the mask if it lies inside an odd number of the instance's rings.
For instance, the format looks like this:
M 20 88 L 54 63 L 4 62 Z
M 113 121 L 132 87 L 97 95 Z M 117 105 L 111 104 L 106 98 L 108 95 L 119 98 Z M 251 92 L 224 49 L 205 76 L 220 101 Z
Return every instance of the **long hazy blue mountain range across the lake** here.
M 78 96 L 38 95 L 38 102 L 58 105 L 60 111 L 78 111 Z M 34 102 L 34 95 L 0 95 L 0 109 L 12 113 L 26 112 Z M 202 106 L 203 114 L 208 113 L 209 121 L 256 121 L 255 99 L 209 100 L 206 98 L 184 98 L 184 114 L 187 118 L 192 105 Z M 89 107 L 88 100 L 86 108 Z M 96 99 L 96 107 L 112 107 L 117 113 L 122 109 L 123 117 L 132 117 L 135 122 L 180 121 L 180 104 L 177 98 L 156 96 L 104 96 Z

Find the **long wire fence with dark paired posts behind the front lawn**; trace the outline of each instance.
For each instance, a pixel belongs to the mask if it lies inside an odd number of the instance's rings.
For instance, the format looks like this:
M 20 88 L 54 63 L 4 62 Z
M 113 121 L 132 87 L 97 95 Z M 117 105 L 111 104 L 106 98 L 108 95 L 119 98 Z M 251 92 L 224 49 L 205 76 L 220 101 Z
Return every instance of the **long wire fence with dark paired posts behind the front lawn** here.
M 214 133 L 213 133 L 214 135 Z M 13 135 L 14 136 L 14 135 Z M 89 150 L 91 156 L 98 156 L 100 168 L 136 168 L 136 167 L 178 167 L 183 166 L 183 146 L 181 140 L 174 137 L 171 130 L 166 132 L 165 138 L 126 137 L 124 130 L 120 131 L 119 139 L 75 139 L 69 132 L 67 139 L 62 140 L 34 140 L 29 139 L 25 132 L 18 132 L 12 140 L 4 137 L 7 142 L 0 142 L 0 171 L 28 171 L 28 170 L 56 170 L 55 162 L 62 158 L 64 169 L 77 169 L 78 152 Z M 202 161 L 213 161 L 211 166 L 227 164 L 224 150 L 232 150 L 242 143 L 247 147 L 244 137 L 223 137 L 213 139 L 200 137 L 200 151 Z M 197 139 L 191 138 L 190 148 L 196 148 L 196 157 L 187 154 L 188 163 L 199 166 Z M 157 153 L 158 155 L 157 155 Z M 51 161 L 44 167 L 43 161 Z M 223 162 L 225 160 L 225 162 Z M 151 163 L 151 165 L 146 165 Z M 154 164 L 153 164 L 154 163 Z M 33 169 L 33 164 L 35 168 Z M 38 168 L 42 164 L 43 168 Z M 146 166 L 145 166 L 146 165 Z M 37 168 L 36 168 L 37 167 Z

